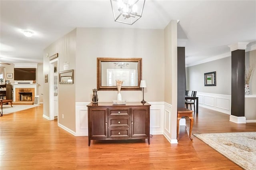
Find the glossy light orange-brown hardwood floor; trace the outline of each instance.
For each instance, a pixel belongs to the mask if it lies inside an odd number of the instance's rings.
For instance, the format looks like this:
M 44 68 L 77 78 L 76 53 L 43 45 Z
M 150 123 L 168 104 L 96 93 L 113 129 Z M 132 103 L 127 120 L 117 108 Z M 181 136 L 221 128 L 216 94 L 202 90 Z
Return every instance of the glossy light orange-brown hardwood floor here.
M 1 170 L 174 169 L 239 170 L 239 166 L 180 128 L 178 144 L 163 135 L 146 140 L 92 141 L 73 136 L 42 117 L 42 105 L 0 117 Z M 256 131 L 256 123 L 229 122 L 229 115 L 199 107 L 192 133 Z M 189 121 L 187 121 L 189 124 Z

